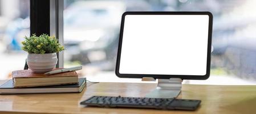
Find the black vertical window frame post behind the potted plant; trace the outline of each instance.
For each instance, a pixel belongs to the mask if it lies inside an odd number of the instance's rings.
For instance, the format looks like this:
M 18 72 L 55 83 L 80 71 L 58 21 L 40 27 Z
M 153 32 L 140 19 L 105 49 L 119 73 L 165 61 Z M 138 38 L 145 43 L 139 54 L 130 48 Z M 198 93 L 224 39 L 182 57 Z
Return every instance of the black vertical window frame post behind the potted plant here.
M 30 35 L 49 34 L 63 43 L 63 0 L 30 0 Z M 63 51 L 57 53 L 56 68 L 63 68 Z M 24 69 L 28 69 L 27 63 Z

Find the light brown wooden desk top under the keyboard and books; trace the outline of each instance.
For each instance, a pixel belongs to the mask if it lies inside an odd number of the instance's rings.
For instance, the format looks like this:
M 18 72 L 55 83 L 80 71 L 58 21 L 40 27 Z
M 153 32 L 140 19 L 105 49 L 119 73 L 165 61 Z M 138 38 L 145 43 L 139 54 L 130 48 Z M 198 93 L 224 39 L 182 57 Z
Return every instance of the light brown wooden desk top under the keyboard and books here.
M 3 81 L 0 81 L 3 83 Z M 92 95 L 143 97 L 156 84 L 87 83 L 82 93 L 0 95 L 0 113 L 255 113 L 256 86 L 182 86 L 182 99 L 201 99 L 197 111 L 155 109 L 84 108 L 80 101 Z

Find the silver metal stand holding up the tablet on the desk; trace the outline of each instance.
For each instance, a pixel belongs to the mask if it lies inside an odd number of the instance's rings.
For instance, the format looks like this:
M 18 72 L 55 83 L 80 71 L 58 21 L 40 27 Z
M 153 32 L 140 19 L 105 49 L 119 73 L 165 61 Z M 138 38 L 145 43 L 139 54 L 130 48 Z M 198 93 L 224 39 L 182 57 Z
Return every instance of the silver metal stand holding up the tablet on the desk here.
M 154 81 L 155 79 L 143 78 L 142 80 Z M 156 89 L 148 93 L 146 97 L 154 97 L 154 98 L 177 97 L 181 92 L 181 86 L 182 86 L 181 83 L 182 83 L 182 79 L 180 78 L 159 79 Z

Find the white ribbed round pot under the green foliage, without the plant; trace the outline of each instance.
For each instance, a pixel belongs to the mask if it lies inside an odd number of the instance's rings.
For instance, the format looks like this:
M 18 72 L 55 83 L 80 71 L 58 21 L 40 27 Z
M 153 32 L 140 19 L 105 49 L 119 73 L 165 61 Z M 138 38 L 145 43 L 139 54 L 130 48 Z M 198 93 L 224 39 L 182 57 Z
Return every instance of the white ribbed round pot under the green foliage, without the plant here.
M 56 66 L 57 61 L 56 53 L 27 55 L 29 69 L 37 73 L 51 71 Z

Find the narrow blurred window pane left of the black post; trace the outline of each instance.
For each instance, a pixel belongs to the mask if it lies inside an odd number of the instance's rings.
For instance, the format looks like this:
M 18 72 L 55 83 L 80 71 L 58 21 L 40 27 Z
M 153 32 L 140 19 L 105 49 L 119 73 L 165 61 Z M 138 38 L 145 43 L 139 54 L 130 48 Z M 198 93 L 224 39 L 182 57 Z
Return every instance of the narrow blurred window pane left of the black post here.
M 11 71 L 24 68 L 24 36 L 30 36 L 30 1 L 0 0 L 0 79 L 11 78 Z

